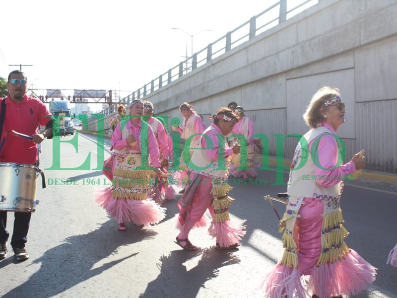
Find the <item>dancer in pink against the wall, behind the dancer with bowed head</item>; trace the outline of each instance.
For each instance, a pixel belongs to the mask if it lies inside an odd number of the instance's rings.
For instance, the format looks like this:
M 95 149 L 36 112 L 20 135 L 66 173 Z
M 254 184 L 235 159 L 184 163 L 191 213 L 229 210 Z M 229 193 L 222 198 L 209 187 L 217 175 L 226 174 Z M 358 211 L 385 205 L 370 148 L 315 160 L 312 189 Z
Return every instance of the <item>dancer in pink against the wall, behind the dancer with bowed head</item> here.
M 254 123 L 250 118 L 244 115 L 244 109 L 241 106 L 237 106 L 234 112 L 240 120 L 233 127 L 231 135 L 241 135 L 244 136 L 245 139 L 233 137 L 229 139 L 229 144 L 230 142 L 232 142 L 232 144 L 239 142 L 242 147 L 244 146 L 247 148 L 247 154 L 244 158 L 243 156 L 241 157 L 241 162 L 239 164 L 235 165 L 232 163 L 230 165 L 230 176 L 243 178 L 245 180 L 248 180 L 248 178 L 256 178 L 258 171 L 257 167 L 254 165 L 254 139 L 252 139 L 252 136 L 255 134 Z

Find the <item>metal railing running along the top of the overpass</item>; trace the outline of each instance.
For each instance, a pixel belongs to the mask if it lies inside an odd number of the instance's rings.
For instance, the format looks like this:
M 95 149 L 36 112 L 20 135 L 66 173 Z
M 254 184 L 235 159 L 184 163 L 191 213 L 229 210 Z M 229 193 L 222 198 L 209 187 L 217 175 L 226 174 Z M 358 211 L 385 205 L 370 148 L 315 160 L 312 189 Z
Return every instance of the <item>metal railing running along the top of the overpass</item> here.
M 186 60 L 181 61 L 177 66 L 169 69 L 164 74 L 160 74 L 158 77 L 152 79 L 149 83 L 132 92 L 132 94 L 119 100 L 118 103 L 128 105 L 134 99 L 144 98 L 148 94 L 162 88 L 163 86 L 166 86 L 167 84 L 170 84 L 184 75 L 189 74 L 198 67 L 205 65 L 211 60 L 227 53 L 231 49 L 248 42 L 266 30 L 317 4 L 319 1 L 322 0 L 273 1 L 273 4 L 271 4 L 261 13 L 251 17 L 251 19 L 241 24 L 234 30 L 227 32 L 226 35 L 210 43 L 206 48 L 200 50 L 199 52 L 194 53 L 192 57 L 188 57 Z M 116 111 L 117 105 L 115 104 L 108 109 L 97 113 L 97 115 L 103 114 L 103 116 L 106 117 L 107 115 Z M 96 119 L 97 117 L 90 117 L 89 122 L 93 122 Z

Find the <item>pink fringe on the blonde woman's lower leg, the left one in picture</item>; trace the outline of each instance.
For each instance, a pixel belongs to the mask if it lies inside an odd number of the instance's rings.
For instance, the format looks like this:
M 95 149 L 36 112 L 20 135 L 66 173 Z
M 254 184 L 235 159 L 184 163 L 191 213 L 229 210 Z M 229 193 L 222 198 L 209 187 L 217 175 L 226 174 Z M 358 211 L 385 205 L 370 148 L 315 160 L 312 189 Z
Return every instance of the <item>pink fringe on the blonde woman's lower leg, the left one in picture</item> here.
M 309 294 L 304 285 L 305 282 L 298 270 L 277 264 L 265 275 L 257 290 L 264 291 L 266 298 L 306 298 Z

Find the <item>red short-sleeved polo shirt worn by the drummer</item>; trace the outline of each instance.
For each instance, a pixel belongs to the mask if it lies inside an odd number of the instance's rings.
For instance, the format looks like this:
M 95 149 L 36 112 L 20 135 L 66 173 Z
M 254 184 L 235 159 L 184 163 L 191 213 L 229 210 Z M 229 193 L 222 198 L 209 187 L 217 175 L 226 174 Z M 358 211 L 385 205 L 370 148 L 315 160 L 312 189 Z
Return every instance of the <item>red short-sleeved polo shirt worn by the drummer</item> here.
M 26 94 L 20 103 L 13 102 L 8 95 L 5 97 L 5 104 L 5 119 L 0 144 L 4 138 L 5 141 L 0 151 L 0 161 L 34 164 L 37 160 L 37 143 L 7 132 L 14 130 L 33 136 L 39 124 L 45 126 L 51 120 L 51 113 L 42 101 Z

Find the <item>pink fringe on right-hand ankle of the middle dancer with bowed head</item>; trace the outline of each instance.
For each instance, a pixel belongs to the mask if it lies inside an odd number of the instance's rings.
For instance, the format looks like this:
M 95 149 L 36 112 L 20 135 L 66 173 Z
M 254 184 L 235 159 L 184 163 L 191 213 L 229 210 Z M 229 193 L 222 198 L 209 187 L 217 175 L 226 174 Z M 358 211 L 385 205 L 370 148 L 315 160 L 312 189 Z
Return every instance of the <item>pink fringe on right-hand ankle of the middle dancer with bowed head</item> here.
M 238 223 L 232 223 L 230 220 L 223 223 L 212 222 L 208 228 L 208 232 L 211 236 L 216 237 L 216 242 L 221 247 L 228 247 L 235 243 L 240 243 L 241 237 L 246 233 L 244 221 Z

